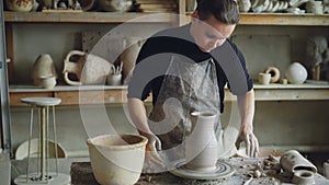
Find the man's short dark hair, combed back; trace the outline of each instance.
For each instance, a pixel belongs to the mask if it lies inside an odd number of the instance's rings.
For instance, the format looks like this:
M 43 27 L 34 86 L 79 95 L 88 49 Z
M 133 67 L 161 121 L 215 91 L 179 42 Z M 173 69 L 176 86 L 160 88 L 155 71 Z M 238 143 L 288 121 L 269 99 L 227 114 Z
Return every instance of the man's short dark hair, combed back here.
M 240 21 L 236 0 L 197 0 L 198 19 L 204 21 L 212 15 L 225 24 L 237 24 Z

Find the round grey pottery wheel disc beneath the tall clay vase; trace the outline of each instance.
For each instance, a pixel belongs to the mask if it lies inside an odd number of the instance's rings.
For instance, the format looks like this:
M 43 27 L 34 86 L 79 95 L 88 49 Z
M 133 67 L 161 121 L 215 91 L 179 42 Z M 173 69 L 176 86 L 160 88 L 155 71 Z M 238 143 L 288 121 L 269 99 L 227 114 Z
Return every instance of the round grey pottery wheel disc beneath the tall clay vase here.
M 178 162 L 175 164 L 177 167 L 170 172 L 177 176 L 192 180 L 220 180 L 226 178 L 236 172 L 232 165 L 224 161 L 218 161 L 216 169 L 213 171 L 190 170 L 186 169 L 184 164 L 185 161 Z

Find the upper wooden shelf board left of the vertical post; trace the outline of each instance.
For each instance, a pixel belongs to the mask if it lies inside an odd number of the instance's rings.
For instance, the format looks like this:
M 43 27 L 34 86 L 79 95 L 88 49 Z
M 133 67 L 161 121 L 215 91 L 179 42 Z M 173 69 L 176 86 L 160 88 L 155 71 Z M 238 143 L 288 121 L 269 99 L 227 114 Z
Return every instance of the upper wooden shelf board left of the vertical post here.
M 4 11 L 5 23 L 173 23 L 175 16 L 166 13 L 118 12 L 10 12 Z

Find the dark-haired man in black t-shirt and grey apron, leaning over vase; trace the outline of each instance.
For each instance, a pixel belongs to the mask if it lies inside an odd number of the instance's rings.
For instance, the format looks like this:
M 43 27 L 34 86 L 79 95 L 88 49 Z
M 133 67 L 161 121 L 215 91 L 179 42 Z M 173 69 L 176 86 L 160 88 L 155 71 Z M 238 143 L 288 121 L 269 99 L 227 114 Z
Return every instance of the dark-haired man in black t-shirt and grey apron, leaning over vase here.
M 190 24 L 161 31 L 144 44 L 128 84 L 128 109 L 139 134 L 149 139 L 147 162 L 161 162 L 159 152 L 169 160 L 183 158 L 193 111 L 218 116 L 219 141 L 226 84 L 237 95 L 241 118 L 236 146 L 245 141 L 247 153 L 258 154 L 252 80 L 241 51 L 228 39 L 239 19 L 235 0 L 202 0 Z M 150 93 L 154 106 L 147 116 L 144 101 Z

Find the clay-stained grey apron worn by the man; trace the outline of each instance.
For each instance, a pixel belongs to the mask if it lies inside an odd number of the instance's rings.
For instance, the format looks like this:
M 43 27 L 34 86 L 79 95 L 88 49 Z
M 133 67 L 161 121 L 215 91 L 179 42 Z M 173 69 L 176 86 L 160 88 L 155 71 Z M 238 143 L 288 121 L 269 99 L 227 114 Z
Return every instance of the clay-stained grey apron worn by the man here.
M 215 134 L 219 139 L 220 100 L 216 67 L 213 59 L 194 62 L 179 56 L 171 57 L 159 96 L 149 115 L 149 127 L 161 140 L 169 161 L 184 158 L 184 139 L 191 134 L 190 113 L 211 111 L 217 117 Z

